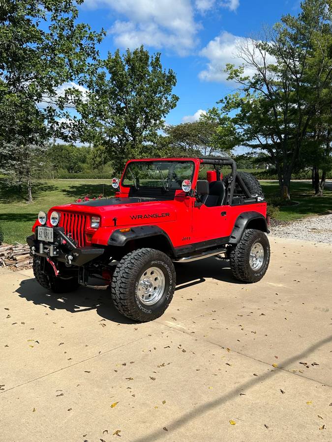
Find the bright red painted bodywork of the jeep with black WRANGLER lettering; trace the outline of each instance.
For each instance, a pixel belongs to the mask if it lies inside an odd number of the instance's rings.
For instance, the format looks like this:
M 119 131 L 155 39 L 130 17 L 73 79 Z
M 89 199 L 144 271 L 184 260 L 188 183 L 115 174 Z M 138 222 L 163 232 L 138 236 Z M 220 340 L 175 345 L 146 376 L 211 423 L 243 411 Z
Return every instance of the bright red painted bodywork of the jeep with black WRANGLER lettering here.
M 155 161 L 155 159 L 151 160 Z M 158 159 L 158 161 L 170 160 L 183 161 L 184 159 Z M 202 160 L 197 158 L 186 158 L 185 161 L 193 161 L 195 164 L 195 171 L 192 179 L 192 188 L 195 189 L 199 166 Z M 121 182 L 122 178 L 123 174 Z M 127 198 L 129 187 L 122 186 L 121 182 L 120 192 L 118 192 L 116 196 Z M 70 224 L 70 228 L 75 230 L 75 228 L 78 229 L 79 227 L 78 223 L 82 222 L 80 221 L 81 219 L 87 220 L 84 226 L 85 245 L 96 244 L 106 246 L 113 231 L 119 228 L 156 225 L 169 236 L 173 247 L 175 248 L 209 239 L 228 237 L 234 228 L 237 217 L 243 212 L 257 212 L 266 217 L 267 204 L 265 202 L 216 207 L 207 207 L 202 204 L 199 207 L 195 207 L 195 201 L 195 197 L 186 195 L 179 190 L 176 192 L 174 200 L 120 203 L 117 205 L 105 205 L 100 207 L 87 206 L 84 204 L 81 205 L 78 203 L 65 204 L 53 207 L 50 209 L 49 214 L 51 214 L 53 210 L 56 210 L 61 214 L 68 213 L 84 215 L 84 217 L 81 218 L 67 217 L 66 222 L 69 222 L 68 220 L 70 220 L 72 223 Z M 90 227 L 91 216 L 100 217 L 100 227 L 98 229 Z M 117 219 L 116 225 L 114 221 L 115 218 Z M 65 217 L 62 215 L 60 217 L 60 226 L 64 226 L 64 219 Z M 37 225 L 39 225 L 38 221 L 33 225 L 32 231 L 34 231 Z M 47 225 L 50 226 L 49 219 Z M 89 236 L 87 237 L 87 235 Z M 82 241 L 80 241 L 80 245 Z

